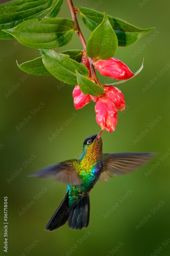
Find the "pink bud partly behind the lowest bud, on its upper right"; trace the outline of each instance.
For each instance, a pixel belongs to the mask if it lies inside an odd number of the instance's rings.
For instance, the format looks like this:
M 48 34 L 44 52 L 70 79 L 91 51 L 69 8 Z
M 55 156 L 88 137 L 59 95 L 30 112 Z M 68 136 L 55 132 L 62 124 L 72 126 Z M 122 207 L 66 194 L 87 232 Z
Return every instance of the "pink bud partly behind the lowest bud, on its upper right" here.
M 125 99 L 123 97 L 123 93 L 118 88 L 113 86 L 105 86 L 103 89 L 105 90 L 103 97 L 111 100 L 115 104 L 117 110 L 122 111 L 125 109 Z

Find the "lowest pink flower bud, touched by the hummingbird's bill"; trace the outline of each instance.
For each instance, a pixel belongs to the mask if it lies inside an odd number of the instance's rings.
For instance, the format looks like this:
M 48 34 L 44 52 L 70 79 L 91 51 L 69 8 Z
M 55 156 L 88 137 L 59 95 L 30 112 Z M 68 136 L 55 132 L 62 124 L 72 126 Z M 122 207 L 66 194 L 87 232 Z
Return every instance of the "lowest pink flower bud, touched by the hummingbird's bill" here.
M 99 98 L 95 105 L 96 121 L 102 130 L 112 132 L 117 124 L 117 109 L 108 98 Z

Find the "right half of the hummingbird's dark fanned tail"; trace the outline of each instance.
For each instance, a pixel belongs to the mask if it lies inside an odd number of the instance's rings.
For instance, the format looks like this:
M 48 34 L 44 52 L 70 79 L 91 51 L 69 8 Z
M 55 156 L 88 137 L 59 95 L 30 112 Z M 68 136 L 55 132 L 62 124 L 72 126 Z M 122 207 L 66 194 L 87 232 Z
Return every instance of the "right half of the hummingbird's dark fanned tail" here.
M 90 217 L 89 195 L 83 197 L 69 212 L 68 227 L 73 229 L 87 228 Z

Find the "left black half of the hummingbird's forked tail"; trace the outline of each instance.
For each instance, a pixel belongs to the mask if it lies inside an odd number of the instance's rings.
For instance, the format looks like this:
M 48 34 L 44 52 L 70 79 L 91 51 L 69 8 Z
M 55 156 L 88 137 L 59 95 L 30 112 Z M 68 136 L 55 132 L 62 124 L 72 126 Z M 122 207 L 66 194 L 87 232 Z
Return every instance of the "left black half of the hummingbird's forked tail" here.
M 45 226 L 45 230 L 53 231 L 63 226 L 68 219 L 69 211 L 70 211 L 70 208 L 68 206 L 68 192 L 67 192 L 62 202 L 54 212 L 53 216 L 50 218 L 47 225 Z

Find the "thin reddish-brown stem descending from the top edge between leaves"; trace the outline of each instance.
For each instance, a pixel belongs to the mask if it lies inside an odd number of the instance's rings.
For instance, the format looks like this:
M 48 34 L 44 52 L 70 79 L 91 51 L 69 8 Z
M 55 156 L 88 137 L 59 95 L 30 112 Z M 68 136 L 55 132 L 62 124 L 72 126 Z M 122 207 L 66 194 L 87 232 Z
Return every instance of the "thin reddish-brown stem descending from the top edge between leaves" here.
M 70 12 L 71 12 L 72 20 L 76 24 L 76 31 L 77 31 L 76 33 L 78 34 L 78 36 L 79 36 L 79 38 L 81 40 L 83 49 L 86 52 L 86 41 L 84 40 L 83 34 L 81 33 L 81 29 L 79 27 L 78 20 L 77 20 L 77 17 L 76 17 L 76 11 L 79 11 L 79 9 L 74 7 L 74 5 L 72 3 L 72 0 L 67 0 L 67 3 L 68 3 L 68 6 L 69 6 L 69 9 L 70 9 Z M 88 57 L 88 60 L 90 62 L 90 68 L 91 68 L 92 76 L 94 77 L 96 83 L 101 86 L 101 84 L 100 84 L 100 82 L 99 82 L 99 80 L 98 80 L 98 78 L 96 76 L 95 68 L 92 65 L 93 60 L 91 58 L 89 58 L 89 57 Z

